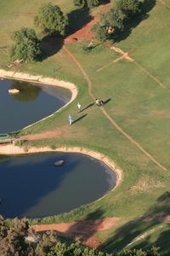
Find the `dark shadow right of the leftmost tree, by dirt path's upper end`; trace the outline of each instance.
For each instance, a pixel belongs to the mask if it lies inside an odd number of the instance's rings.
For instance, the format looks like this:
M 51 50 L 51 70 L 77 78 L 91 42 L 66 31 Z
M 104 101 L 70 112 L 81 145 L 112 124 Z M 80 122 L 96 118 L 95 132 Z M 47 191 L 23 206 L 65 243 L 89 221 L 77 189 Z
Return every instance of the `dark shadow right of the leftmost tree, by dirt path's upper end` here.
M 59 49 L 62 48 L 64 44 L 64 38 L 56 38 L 46 36 L 42 38 L 41 48 L 42 48 L 42 58 L 40 61 L 47 59 L 48 57 L 55 55 Z

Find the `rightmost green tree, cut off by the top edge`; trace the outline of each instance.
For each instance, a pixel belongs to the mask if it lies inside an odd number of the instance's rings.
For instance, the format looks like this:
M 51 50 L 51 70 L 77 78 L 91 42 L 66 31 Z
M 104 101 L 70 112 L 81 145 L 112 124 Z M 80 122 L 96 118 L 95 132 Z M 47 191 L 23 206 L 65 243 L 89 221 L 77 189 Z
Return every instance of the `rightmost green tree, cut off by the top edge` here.
M 127 18 L 140 12 L 139 0 L 116 0 L 116 9 L 121 9 Z

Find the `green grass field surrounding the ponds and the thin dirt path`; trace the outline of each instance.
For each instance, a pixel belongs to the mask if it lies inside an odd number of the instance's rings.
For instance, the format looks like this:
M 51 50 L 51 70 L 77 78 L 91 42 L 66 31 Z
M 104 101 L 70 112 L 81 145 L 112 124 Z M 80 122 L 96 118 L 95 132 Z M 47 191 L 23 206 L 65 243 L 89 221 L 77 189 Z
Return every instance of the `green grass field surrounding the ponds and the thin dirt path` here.
M 42 3 L 46 1 L 38 0 L 36 6 L 32 0 L 26 5 L 22 0 L 0 3 L 1 68 L 6 68 L 8 62 L 8 48 L 4 47 L 12 44 L 11 33 L 20 29 L 20 24 L 33 26 L 33 15 L 37 14 L 37 9 Z M 51 3 L 59 4 L 68 14 L 74 10 L 70 0 L 56 0 Z M 69 131 L 61 137 L 29 142 L 25 146 L 49 145 L 51 148 L 57 148 L 68 145 L 92 148 L 111 157 L 122 169 L 122 183 L 102 200 L 60 216 L 31 221 L 53 223 L 89 216 L 119 217 L 116 226 L 96 234 L 99 240 L 104 241 L 101 249 L 107 252 L 112 252 L 114 248 L 126 247 L 135 237 L 158 227 L 161 224 L 160 212 L 170 212 L 170 198 L 165 194 L 170 187 L 170 4 L 168 0 L 163 0 L 164 4 L 157 0 L 155 5 L 150 4 L 149 9 L 149 3 L 153 2 L 145 1 L 148 6 L 147 15 L 133 20 L 130 24 L 131 31 L 126 32 L 119 38 L 119 42 L 117 40 L 114 44 L 125 52 L 132 49 L 130 56 L 135 61 L 123 59 L 105 67 L 120 55 L 104 45 L 96 46 L 88 54 L 83 51 L 83 47 L 87 46 L 89 41 L 68 44 L 66 48 L 88 74 L 94 96 L 104 101 L 109 100 L 104 107 L 106 112 L 123 131 L 165 166 L 167 171 L 162 171 L 139 148 L 130 143 L 95 106 L 82 112 L 87 115 L 75 125 L 71 125 Z M 60 113 L 54 114 L 52 118 L 20 131 L 20 134 L 51 131 L 56 127 L 59 129 L 67 125 L 68 113 L 71 113 L 74 119 L 79 117 L 77 102 L 82 103 L 82 108 L 93 102 L 88 95 L 87 81 L 82 77 L 80 69 L 66 55 L 64 49 L 55 47 L 52 47 L 52 53 L 44 61 L 23 65 L 17 71 L 71 81 L 77 84 L 79 90 L 77 100 Z M 55 74 L 52 67 L 58 69 Z M 101 67 L 104 68 L 97 72 Z M 163 84 L 164 88 L 160 84 Z M 153 219 L 144 222 L 144 216 L 149 215 Z M 161 229 L 156 229 L 150 236 L 134 242 L 130 247 L 149 248 L 154 245 L 161 247 L 162 255 L 169 255 L 169 224 L 164 222 L 162 225 Z

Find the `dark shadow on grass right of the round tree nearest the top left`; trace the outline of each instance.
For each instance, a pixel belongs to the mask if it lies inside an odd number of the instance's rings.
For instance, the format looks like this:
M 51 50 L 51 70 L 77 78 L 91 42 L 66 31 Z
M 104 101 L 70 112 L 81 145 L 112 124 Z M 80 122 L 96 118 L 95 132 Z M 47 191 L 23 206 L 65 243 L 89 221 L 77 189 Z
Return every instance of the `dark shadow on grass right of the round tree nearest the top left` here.
M 89 21 L 93 20 L 93 16 L 89 15 L 88 8 L 75 9 L 67 15 L 69 26 L 67 29 L 67 36 L 77 32 L 85 26 Z

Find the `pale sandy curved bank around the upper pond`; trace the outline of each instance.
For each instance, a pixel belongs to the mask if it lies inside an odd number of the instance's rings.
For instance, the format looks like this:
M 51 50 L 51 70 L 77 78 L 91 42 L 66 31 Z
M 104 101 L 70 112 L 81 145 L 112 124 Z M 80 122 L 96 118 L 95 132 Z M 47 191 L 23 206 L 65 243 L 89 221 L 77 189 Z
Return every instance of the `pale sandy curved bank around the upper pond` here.
M 51 85 L 51 86 L 57 86 L 57 87 L 62 87 L 68 90 L 71 90 L 71 100 L 67 102 L 62 108 L 59 108 L 56 110 L 54 113 L 58 113 L 61 111 L 63 108 L 67 107 L 71 102 L 73 102 L 78 94 L 77 86 L 76 84 L 72 84 L 70 82 L 66 82 L 64 80 L 59 80 L 59 79 L 51 79 L 47 77 L 42 77 L 41 75 L 31 75 L 29 73 L 17 73 L 13 71 L 6 71 L 3 69 L 0 69 L 0 78 L 1 79 L 13 79 L 13 80 L 20 80 L 28 83 L 34 83 L 34 84 L 44 84 L 44 85 Z M 48 119 L 49 117 L 53 116 L 54 113 L 48 115 L 47 117 L 38 120 L 37 122 L 31 124 L 37 124 L 38 122 L 41 122 L 44 119 Z M 22 130 L 31 127 L 31 125 L 27 125 L 24 127 Z

